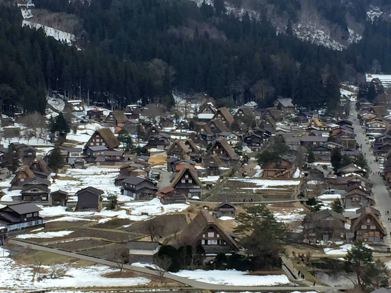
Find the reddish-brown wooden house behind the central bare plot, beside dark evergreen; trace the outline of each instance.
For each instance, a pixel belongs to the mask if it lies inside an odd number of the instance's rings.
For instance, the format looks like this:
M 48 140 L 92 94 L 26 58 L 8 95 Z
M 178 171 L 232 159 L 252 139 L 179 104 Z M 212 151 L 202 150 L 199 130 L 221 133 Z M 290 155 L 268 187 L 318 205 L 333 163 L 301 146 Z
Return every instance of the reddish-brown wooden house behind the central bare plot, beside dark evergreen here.
M 296 172 L 296 156 L 282 155 L 267 165 L 262 166 L 263 178 L 292 178 Z

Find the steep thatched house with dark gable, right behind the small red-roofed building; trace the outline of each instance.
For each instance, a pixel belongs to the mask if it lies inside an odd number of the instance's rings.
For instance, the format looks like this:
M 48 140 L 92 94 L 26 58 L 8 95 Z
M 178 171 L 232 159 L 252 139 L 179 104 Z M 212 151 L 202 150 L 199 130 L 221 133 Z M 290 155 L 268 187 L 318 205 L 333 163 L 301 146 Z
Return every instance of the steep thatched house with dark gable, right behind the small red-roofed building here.
M 170 186 L 185 194 L 187 198 L 199 198 L 201 195 L 201 181 L 189 163 L 185 163 L 181 170 L 176 173 Z

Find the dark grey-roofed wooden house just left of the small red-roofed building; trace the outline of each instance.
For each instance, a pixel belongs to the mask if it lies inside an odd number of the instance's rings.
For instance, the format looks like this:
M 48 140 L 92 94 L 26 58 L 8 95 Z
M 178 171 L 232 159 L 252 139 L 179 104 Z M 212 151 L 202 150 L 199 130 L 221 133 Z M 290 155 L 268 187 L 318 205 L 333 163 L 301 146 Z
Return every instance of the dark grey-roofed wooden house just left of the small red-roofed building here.
M 153 198 L 158 191 L 151 179 L 141 175 L 129 176 L 121 181 L 121 185 L 121 192 L 136 200 Z

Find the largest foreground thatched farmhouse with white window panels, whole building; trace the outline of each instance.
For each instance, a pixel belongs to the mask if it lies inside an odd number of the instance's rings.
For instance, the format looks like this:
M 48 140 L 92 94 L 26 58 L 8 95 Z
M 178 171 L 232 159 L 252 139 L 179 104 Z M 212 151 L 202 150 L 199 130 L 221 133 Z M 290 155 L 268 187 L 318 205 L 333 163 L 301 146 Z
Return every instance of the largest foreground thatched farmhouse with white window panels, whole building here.
M 178 238 L 181 245 L 201 245 L 206 254 L 232 253 L 239 251 L 237 243 L 206 209 L 201 211 L 185 227 Z

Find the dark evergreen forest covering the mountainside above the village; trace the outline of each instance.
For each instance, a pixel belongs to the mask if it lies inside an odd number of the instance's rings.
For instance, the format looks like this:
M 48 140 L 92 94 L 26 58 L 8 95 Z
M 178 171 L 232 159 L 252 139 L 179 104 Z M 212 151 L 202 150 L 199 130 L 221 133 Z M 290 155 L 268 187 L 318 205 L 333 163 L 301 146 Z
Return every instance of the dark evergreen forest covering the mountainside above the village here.
M 253 1 L 258 5 L 252 7 L 258 11 L 256 17 L 241 8 L 249 3 L 34 0 L 40 11 L 77 20 L 72 46 L 45 38 L 42 30 L 22 28 L 20 10 L 2 6 L 0 50 L 6 53 L 0 55 L 0 79 L 1 86 L 12 93 L 4 95 L 4 110 L 17 106 L 42 112 L 45 92 L 50 89 L 69 97 L 89 95 L 93 101 L 118 107 L 140 99 L 144 104 L 169 105 L 172 89 L 177 89 L 230 98 L 239 104 L 257 100 L 267 106 L 276 96 L 284 96 L 308 109 L 323 105 L 334 109 L 340 80 L 357 81 L 358 73 L 371 70 L 374 59 L 383 71 L 391 71 L 387 20 L 364 21 L 362 39 L 337 51 L 296 37 L 295 25 L 304 2 Z M 262 8 L 265 3 L 273 9 Z M 369 6 L 364 6 L 365 14 Z M 339 8 L 334 16 L 338 21 Z M 321 8 L 316 9 L 322 15 Z M 278 29 L 276 34 L 276 17 L 286 15 L 285 30 Z M 328 14 L 322 17 L 335 22 Z M 357 17 L 356 22 L 361 21 Z

